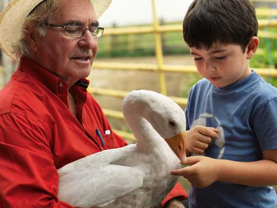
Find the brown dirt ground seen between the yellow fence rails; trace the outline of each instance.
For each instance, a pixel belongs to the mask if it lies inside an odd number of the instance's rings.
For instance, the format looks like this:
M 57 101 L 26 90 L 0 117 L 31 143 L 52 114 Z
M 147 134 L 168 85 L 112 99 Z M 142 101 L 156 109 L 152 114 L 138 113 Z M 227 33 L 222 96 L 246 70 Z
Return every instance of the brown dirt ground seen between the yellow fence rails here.
M 155 57 L 139 58 L 114 58 L 114 59 L 97 59 L 99 62 L 119 62 L 119 63 L 151 63 L 156 64 Z M 166 65 L 192 65 L 194 64 L 191 56 L 165 56 L 163 60 Z M 93 67 L 92 67 L 93 68 Z M 169 96 L 180 96 L 183 89 L 188 83 L 188 75 L 181 73 L 165 73 L 166 89 Z M 90 86 L 131 91 L 134 89 L 148 89 L 160 91 L 158 73 L 145 71 L 115 71 L 115 70 L 98 70 L 93 69 L 90 75 Z M 119 110 L 121 98 L 94 95 L 102 108 Z M 181 106 L 184 107 L 184 106 Z M 122 126 L 124 122 L 108 118 L 112 127 L 125 130 Z

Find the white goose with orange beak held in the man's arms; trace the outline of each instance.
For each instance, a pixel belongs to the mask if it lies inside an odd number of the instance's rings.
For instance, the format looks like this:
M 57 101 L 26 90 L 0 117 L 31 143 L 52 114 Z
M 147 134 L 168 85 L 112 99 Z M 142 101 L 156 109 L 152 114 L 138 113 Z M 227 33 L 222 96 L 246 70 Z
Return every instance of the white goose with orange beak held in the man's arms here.
M 180 167 L 178 157 L 185 162 L 183 110 L 147 90 L 129 93 L 121 108 L 137 144 L 61 167 L 60 200 L 80 208 L 154 208 L 175 186 L 170 171 Z

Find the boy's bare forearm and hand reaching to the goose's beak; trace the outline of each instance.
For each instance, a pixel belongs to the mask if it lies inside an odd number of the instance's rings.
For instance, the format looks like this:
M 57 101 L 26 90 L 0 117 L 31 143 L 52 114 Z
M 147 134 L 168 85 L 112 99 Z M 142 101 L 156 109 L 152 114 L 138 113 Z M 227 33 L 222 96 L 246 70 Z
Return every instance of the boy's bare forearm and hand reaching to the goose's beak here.
M 255 162 L 192 156 L 186 164 L 191 166 L 171 174 L 185 177 L 195 187 L 207 187 L 216 181 L 245 186 L 277 185 L 277 149 L 263 151 L 263 159 Z

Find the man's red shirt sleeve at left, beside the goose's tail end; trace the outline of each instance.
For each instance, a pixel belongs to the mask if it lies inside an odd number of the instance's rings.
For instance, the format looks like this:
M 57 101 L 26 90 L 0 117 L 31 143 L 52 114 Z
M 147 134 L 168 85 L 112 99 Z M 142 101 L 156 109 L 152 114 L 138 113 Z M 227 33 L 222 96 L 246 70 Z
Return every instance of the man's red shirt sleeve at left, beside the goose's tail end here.
M 59 201 L 59 178 L 40 121 L 0 116 L 0 207 L 73 208 Z

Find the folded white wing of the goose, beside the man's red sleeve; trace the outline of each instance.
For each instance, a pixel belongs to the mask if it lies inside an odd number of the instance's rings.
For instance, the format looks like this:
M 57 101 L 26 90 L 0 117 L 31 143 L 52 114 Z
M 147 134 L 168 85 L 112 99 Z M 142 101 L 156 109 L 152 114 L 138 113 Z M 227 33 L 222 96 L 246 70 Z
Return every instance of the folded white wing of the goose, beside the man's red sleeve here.
M 128 157 L 130 153 L 132 151 L 128 148 L 105 150 L 60 168 L 59 200 L 75 207 L 100 207 L 141 187 L 143 170 L 126 164 L 112 164 Z M 100 161 L 104 165 L 101 165 Z

